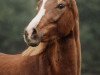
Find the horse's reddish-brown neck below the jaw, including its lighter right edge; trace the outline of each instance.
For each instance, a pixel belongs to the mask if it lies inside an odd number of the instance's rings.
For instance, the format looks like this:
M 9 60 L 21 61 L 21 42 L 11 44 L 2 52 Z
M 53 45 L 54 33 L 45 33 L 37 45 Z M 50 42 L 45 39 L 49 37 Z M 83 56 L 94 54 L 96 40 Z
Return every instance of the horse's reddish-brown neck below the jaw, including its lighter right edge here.
M 46 51 L 56 72 L 62 71 L 68 75 L 72 72 L 73 75 L 78 75 L 77 68 L 80 67 L 79 25 L 75 25 L 73 31 L 66 37 L 49 42 Z

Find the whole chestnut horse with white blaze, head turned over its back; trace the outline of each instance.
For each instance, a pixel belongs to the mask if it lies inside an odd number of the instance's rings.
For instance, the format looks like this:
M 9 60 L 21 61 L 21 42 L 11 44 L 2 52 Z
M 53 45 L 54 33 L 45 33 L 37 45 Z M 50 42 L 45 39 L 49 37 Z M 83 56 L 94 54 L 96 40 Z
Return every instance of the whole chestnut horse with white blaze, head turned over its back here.
M 75 0 L 39 0 L 38 14 L 25 29 L 30 46 L 0 54 L 0 75 L 81 75 L 79 15 Z

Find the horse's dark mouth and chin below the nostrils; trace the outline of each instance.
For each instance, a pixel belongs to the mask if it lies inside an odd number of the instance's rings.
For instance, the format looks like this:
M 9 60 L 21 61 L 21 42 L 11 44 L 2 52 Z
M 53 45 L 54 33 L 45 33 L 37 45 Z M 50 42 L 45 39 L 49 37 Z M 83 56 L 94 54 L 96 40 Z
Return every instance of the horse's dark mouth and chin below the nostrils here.
M 37 33 L 31 36 L 28 36 L 26 33 L 24 34 L 24 41 L 28 46 L 36 47 L 40 43 L 48 42 L 48 36 L 44 33 Z

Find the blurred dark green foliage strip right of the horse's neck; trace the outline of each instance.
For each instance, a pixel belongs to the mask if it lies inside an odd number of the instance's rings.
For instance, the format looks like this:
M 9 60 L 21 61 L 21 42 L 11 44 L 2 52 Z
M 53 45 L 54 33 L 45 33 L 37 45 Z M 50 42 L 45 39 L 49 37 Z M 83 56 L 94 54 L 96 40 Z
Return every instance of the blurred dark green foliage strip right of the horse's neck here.
M 92 75 L 100 75 L 99 3 L 100 0 L 78 0 L 81 26 L 80 30 L 83 56 L 83 71 L 89 72 Z

